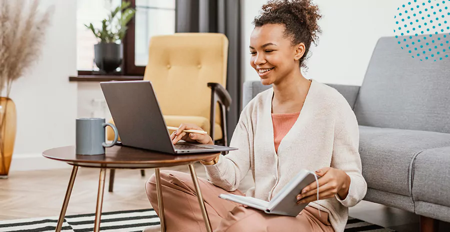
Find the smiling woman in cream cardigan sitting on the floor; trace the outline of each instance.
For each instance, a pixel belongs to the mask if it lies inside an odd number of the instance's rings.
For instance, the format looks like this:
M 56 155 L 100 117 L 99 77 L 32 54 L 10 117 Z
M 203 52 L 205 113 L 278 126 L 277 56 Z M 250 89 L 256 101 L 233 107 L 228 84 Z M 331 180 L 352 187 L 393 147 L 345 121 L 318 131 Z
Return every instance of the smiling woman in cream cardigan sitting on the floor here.
M 348 207 L 365 196 L 353 111 L 335 89 L 300 72 L 320 32 L 320 17 L 311 0 L 273 0 L 253 21 L 250 65 L 262 84 L 273 88 L 242 110 L 230 143 L 238 150 L 201 162 L 209 181 L 200 180 L 200 188 L 215 232 L 342 232 Z M 173 143 L 213 143 L 207 135 L 186 134 L 184 129 L 201 130 L 183 124 L 171 134 Z M 217 197 L 243 195 L 237 187 L 251 171 L 255 186 L 245 196 L 269 201 L 301 169 L 321 178 L 319 200 L 316 183 L 297 196 L 299 203 L 308 203 L 297 217 L 266 215 Z M 161 178 L 167 231 L 205 231 L 190 176 L 167 171 Z M 146 191 L 157 212 L 154 176 Z

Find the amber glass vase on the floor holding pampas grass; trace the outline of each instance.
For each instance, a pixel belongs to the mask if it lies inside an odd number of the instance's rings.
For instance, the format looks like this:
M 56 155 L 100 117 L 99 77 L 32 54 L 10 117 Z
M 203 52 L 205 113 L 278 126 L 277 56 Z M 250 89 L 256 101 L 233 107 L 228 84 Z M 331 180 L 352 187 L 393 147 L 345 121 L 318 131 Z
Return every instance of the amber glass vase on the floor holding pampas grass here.
M 7 179 L 14 150 L 16 132 L 15 104 L 0 97 L 0 179 Z

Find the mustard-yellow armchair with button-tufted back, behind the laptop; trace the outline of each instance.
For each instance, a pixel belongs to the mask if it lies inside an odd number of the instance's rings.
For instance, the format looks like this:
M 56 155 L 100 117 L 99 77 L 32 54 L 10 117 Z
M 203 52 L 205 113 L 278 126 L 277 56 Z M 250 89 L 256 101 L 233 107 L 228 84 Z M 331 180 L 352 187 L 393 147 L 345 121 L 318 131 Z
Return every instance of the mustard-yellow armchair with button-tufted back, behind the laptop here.
M 227 145 L 228 39 L 220 33 L 175 33 L 150 39 L 144 80 L 152 82 L 167 126 L 193 123 Z M 138 96 L 136 96 L 138 97 Z M 111 140 L 112 130 L 107 127 Z

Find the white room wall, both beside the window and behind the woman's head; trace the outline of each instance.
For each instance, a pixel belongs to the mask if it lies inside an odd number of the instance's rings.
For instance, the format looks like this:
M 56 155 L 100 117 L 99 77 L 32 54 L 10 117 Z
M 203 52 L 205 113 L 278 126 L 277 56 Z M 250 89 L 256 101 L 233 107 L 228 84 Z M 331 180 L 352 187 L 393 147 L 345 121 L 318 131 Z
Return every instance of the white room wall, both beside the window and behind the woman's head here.
M 311 47 L 307 78 L 324 83 L 360 85 L 380 36 L 393 36 L 397 7 L 405 0 L 314 0 L 323 15 L 323 33 Z M 423 0 L 418 0 L 422 2 Z M 43 150 L 73 145 L 76 117 L 110 118 L 98 82 L 69 82 L 76 75 L 76 0 L 42 0 L 54 4 L 52 25 L 37 64 L 13 83 L 17 137 L 11 171 L 70 166 L 41 157 Z M 259 80 L 249 65 L 251 21 L 266 0 L 243 0 L 242 42 L 245 80 Z M 94 100 L 94 102 L 92 102 Z M 103 102 L 103 103 L 102 103 Z M 102 105 L 103 104 L 103 105 Z

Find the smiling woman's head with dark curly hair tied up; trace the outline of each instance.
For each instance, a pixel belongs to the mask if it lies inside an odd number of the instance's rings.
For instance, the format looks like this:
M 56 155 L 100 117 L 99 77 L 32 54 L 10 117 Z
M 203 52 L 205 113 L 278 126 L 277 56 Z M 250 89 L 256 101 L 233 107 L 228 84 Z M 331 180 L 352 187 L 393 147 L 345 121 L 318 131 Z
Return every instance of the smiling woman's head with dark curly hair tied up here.
M 318 7 L 306 0 L 271 1 L 262 6 L 261 15 L 253 20 L 249 48 L 250 65 L 264 85 L 292 74 L 294 66 L 306 67 L 309 47 L 321 32 L 320 18 Z

